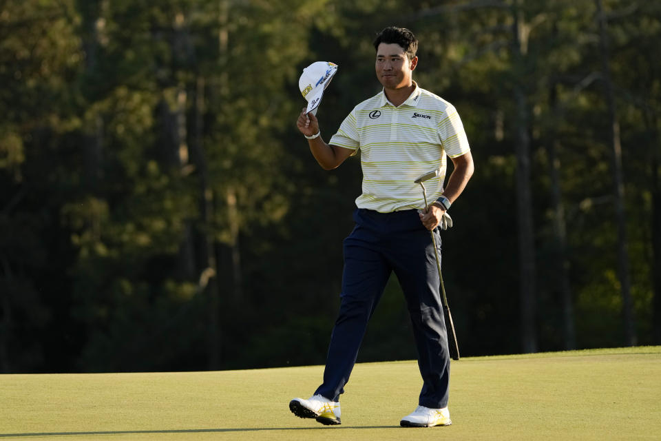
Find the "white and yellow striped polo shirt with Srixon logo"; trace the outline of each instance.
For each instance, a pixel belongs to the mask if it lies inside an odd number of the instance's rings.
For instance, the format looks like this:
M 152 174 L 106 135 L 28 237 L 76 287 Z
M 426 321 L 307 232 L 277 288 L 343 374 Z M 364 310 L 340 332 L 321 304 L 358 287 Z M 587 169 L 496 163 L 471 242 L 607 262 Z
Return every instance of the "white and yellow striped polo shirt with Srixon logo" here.
M 362 194 L 358 208 L 381 213 L 421 209 L 425 203 L 418 176 L 440 170 L 425 182 L 429 203 L 443 192 L 446 155 L 470 151 L 457 110 L 418 87 L 395 107 L 383 90 L 363 101 L 344 119 L 330 144 L 361 152 Z

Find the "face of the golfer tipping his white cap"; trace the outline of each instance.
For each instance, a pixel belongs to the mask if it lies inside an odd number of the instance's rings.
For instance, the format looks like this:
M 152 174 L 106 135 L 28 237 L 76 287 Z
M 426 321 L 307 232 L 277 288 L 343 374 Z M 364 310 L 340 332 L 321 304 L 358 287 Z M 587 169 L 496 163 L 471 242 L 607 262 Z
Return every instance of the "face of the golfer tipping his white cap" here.
M 409 60 L 397 43 L 381 43 L 377 48 L 377 78 L 386 89 L 406 88 L 412 84 L 412 72 L 418 57 Z

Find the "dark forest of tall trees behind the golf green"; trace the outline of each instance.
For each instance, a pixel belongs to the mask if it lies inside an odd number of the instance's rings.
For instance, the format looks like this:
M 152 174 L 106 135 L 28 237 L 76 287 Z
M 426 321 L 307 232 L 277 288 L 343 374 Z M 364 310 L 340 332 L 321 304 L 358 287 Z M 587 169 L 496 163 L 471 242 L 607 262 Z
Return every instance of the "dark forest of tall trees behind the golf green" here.
M 443 232 L 463 356 L 661 344 L 661 2 L 0 0 L 0 372 L 324 362 L 375 34 L 457 107 L 476 172 Z M 655 55 L 656 54 L 656 55 Z M 396 278 L 359 361 L 415 358 Z

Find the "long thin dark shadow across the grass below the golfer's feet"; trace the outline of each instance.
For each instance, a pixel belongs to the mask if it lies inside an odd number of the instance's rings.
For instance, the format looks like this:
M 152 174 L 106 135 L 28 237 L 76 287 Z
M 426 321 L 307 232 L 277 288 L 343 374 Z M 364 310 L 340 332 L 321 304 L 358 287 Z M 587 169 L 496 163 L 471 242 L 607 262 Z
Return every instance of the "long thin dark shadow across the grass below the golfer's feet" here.
M 180 430 L 117 430 L 90 432 L 33 432 L 33 433 L 0 433 L 0 438 L 27 438 L 31 436 L 67 436 L 67 435 L 140 435 L 146 433 L 221 433 L 221 432 L 251 432 L 273 430 L 339 430 L 339 429 L 392 429 L 399 426 L 341 426 L 341 427 L 242 427 L 236 429 L 180 429 Z

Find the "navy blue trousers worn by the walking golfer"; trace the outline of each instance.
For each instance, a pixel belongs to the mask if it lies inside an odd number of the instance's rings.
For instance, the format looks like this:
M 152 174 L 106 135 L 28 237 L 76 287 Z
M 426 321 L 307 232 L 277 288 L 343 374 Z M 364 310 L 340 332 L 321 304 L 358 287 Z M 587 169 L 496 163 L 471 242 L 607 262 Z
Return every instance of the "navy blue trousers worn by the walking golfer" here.
M 406 298 L 423 379 L 419 405 L 448 405 L 450 354 L 439 292 L 434 245 L 416 210 L 354 212 L 356 226 L 344 239 L 342 302 L 330 336 L 324 383 L 319 393 L 339 401 L 358 356 L 367 323 L 392 271 Z M 434 230 L 437 245 L 441 237 Z M 440 257 L 440 249 L 439 249 Z M 388 395 L 388 384 L 383 385 Z

